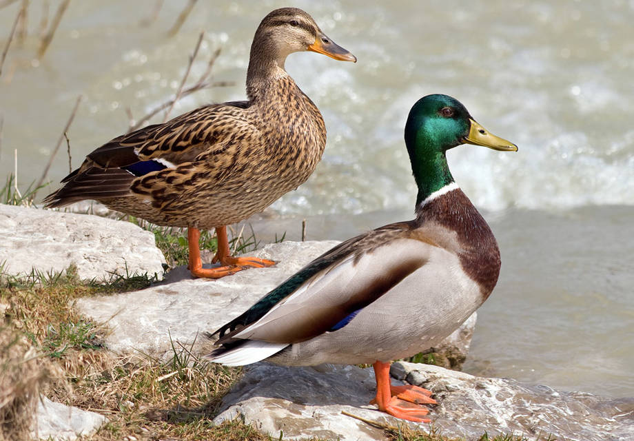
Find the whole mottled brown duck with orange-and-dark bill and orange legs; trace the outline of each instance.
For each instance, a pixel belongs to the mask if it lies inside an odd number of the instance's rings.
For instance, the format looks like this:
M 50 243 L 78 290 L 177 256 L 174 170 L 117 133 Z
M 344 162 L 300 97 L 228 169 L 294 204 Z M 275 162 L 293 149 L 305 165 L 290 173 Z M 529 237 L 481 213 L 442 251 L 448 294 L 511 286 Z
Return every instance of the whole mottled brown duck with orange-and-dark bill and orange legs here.
M 297 8 L 269 13 L 256 30 L 247 71 L 249 101 L 206 105 L 125 134 L 90 153 L 47 207 L 94 199 L 157 225 L 187 227 L 190 271 L 219 278 L 272 260 L 234 258 L 226 225 L 261 212 L 315 170 L 326 128 L 314 103 L 284 70 L 287 55 L 310 50 L 354 55 Z M 200 229 L 216 229 L 218 252 L 203 269 Z

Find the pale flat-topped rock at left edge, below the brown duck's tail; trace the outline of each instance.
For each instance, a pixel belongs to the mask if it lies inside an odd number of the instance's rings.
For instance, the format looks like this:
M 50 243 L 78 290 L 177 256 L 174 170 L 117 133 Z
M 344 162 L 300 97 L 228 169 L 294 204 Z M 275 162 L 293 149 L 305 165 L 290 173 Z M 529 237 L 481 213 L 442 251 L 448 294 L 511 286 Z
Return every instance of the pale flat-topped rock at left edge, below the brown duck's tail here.
M 129 222 L 0 204 L 0 263 L 8 274 L 63 271 L 109 280 L 112 274 L 163 275 L 154 235 Z

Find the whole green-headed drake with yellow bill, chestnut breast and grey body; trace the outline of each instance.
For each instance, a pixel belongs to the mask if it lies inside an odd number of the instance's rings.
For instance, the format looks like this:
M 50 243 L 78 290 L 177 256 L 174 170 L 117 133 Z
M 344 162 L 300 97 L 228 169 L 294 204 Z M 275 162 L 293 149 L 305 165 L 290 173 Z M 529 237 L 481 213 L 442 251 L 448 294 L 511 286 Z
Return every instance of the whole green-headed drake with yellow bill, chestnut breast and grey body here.
M 346 240 L 216 331 L 210 355 L 225 365 L 374 363 L 376 404 L 429 421 L 420 387 L 391 387 L 390 360 L 437 345 L 487 299 L 500 272 L 498 244 L 456 185 L 445 152 L 462 143 L 515 152 L 447 95 L 411 109 L 405 143 L 418 185 L 416 219 Z M 410 404 L 403 400 L 407 400 Z

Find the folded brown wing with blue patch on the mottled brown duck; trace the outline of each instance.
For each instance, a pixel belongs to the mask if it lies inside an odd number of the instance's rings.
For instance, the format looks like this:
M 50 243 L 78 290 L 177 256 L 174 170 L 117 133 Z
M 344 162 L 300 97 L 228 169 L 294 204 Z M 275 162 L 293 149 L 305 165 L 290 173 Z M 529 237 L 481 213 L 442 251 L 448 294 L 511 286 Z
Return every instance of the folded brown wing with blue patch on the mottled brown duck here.
M 133 181 L 140 176 L 163 172 L 161 179 L 186 179 L 192 161 L 203 155 L 223 154 L 258 132 L 245 117 L 247 101 L 207 105 L 167 121 L 118 136 L 86 157 L 66 176 L 57 192 L 44 199 L 47 207 L 61 207 L 82 199 L 130 196 Z M 211 161 L 222 166 L 227 161 Z M 210 165 L 212 166 L 212 165 Z M 156 185 L 158 181 L 154 179 Z M 152 183 L 150 183 L 152 184 Z M 152 195 L 152 185 L 139 185 Z

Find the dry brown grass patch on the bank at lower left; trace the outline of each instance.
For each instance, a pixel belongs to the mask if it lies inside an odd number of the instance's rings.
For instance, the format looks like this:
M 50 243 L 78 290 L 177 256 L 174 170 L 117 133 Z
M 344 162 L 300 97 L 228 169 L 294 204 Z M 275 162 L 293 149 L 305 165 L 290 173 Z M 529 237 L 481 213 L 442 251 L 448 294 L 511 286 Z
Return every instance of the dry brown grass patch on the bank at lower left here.
M 47 380 L 42 387 L 49 398 L 108 417 L 110 422 L 98 433 L 82 439 L 270 440 L 241 420 L 218 427 L 212 424 L 222 397 L 241 369 L 202 362 L 189 347 L 176 343 L 165 360 L 142 353 L 116 356 L 101 346 L 108 329 L 86 320 L 73 307 L 76 298 L 139 289 L 147 283 L 143 278 L 121 278 L 106 285 L 80 283 L 73 269 L 64 274 L 32 274 L 27 279 L 0 274 L 1 316 L 7 324 L 2 336 L 13 336 L 10 347 L 21 348 L 12 360 L 35 353 L 30 347 L 41 354 L 37 361 L 12 362 L 12 376 L 3 371 L 2 381 L 22 378 L 20 387 L 25 389 L 27 384 Z M 3 353 L 5 346 L 9 345 L 0 345 Z M 57 375 L 32 370 L 45 364 Z M 34 375 L 26 375 L 30 372 Z M 4 383 L 0 389 L 8 390 Z M 32 390 L 28 389 L 28 396 L 37 396 Z M 14 395 L 18 396 L 17 391 Z M 8 435 L 0 440 L 26 439 L 24 427 L 30 422 L 33 403 L 15 402 L 13 407 L 19 408 L 24 419 L 19 424 L 11 422 Z

